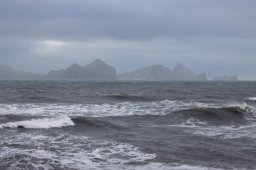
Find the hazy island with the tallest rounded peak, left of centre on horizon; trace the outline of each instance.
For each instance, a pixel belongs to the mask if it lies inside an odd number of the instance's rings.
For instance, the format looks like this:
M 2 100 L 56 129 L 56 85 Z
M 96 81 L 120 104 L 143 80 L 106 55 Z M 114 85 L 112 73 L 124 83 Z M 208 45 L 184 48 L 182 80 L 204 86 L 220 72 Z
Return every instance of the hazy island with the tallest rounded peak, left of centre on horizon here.
M 50 71 L 48 79 L 117 79 L 114 67 L 106 65 L 102 60 L 94 60 L 85 67 L 73 64 L 67 69 Z

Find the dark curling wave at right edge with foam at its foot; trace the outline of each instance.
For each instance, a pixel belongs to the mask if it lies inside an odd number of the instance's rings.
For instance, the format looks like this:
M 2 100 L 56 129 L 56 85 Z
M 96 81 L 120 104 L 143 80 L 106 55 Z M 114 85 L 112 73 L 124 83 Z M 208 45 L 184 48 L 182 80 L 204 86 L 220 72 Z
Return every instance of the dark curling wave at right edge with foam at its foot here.
M 170 126 L 212 138 L 256 138 L 255 108 L 246 103 L 176 112 L 183 119 Z

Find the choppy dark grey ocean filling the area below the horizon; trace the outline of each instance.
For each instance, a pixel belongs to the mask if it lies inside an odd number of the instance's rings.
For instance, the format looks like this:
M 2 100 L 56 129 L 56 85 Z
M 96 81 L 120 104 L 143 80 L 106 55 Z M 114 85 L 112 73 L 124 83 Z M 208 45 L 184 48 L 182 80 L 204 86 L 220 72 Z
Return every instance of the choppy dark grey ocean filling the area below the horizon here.
M 0 169 L 256 169 L 256 81 L 0 81 Z

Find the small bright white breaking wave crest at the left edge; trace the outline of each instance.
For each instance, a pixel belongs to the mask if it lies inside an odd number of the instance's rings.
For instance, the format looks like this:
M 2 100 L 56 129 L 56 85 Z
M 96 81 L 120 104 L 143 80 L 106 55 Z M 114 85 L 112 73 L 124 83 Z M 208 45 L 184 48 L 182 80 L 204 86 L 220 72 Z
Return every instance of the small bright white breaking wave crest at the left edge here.
M 75 124 L 68 116 L 60 116 L 57 118 L 42 118 L 20 122 L 8 122 L 5 124 L 0 124 L 0 128 L 61 128 L 74 125 Z

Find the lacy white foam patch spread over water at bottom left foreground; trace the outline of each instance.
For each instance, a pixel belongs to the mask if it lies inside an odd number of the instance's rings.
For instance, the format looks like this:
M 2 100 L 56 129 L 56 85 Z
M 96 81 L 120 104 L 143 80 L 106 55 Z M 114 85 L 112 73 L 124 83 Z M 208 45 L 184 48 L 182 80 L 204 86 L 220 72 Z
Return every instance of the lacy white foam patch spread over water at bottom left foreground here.
M 222 170 L 177 163 L 148 162 L 154 153 L 143 153 L 127 143 L 93 140 L 71 134 L 45 135 L 40 132 L 6 134 L 0 141 L 0 167 L 9 169 L 170 169 Z M 30 148 L 23 148 L 22 146 Z M 16 156 L 15 156 L 16 155 Z M 22 155 L 18 157 L 17 155 Z M 14 157 L 15 156 L 15 157 Z M 13 159 L 9 159 L 12 157 Z M 21 161 L 22 160 L 22 161 Z

